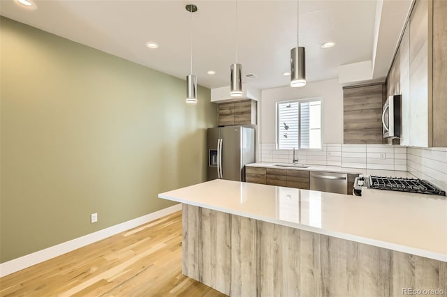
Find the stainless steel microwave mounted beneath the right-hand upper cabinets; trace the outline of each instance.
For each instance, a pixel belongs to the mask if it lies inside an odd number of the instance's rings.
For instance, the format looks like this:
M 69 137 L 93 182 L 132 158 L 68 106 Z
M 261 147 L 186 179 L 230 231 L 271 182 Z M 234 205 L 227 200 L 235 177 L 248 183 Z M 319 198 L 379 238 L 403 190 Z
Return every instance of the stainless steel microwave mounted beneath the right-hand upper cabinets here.
M 388 97 L 382 109 L 383 138 L 400 138 L 401 96 Z

